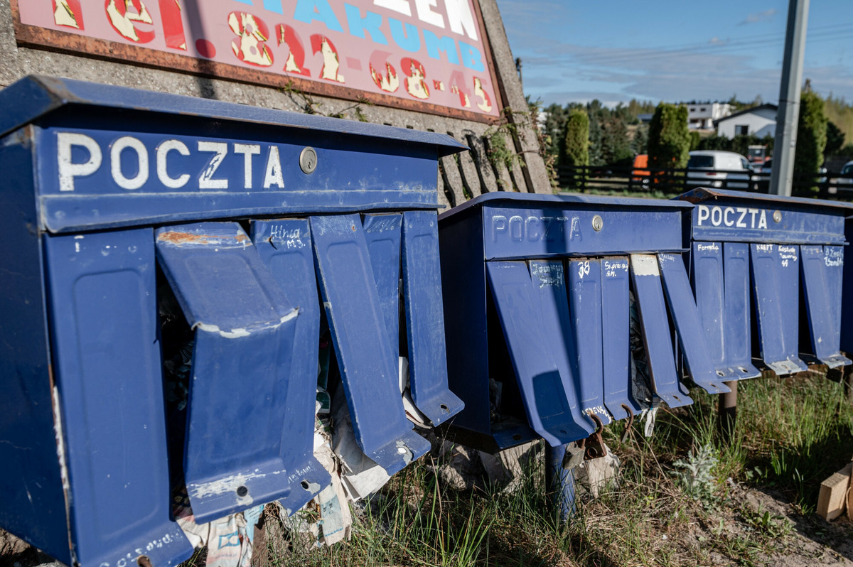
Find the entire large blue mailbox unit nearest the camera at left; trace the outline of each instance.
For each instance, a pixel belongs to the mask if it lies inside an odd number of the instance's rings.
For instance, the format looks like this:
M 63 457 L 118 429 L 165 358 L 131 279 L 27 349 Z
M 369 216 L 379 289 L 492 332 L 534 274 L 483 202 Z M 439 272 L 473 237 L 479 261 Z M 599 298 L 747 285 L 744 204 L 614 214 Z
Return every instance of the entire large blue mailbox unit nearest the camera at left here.
M 447 384 L 438 159 L 448 136 L 25 78 L 0 92 L 0 526 L 66 564 L 192 553 L 197 522 L 328 485 L 328 328 L 357 443 L 426 453 Z M 403 321 L 402 323 L 400 321 Z

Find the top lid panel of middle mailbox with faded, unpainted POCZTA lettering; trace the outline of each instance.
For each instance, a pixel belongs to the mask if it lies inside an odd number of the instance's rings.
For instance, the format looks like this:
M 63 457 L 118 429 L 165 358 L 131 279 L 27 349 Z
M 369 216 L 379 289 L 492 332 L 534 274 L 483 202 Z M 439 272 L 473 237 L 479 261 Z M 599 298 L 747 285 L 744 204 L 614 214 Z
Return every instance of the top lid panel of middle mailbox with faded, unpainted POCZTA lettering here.
M 486 260 L 601 256 L 686 250 L 691 208 L 671 200 L 491 193 L 438 220 L 478 217 Z

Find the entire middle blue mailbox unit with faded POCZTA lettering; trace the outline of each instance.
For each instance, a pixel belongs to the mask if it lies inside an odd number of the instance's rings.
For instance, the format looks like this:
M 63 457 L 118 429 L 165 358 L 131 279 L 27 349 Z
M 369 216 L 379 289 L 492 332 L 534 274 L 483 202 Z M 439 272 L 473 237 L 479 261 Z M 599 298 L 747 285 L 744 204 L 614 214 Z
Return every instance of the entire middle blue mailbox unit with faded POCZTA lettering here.
M 537 437 L 553 447 L 577 441 L 653 396 L 692 403 L 682 360 L 693 382 L 728 391 L 700 342 L 682 257 L 685 205 L 488 194 L 442 213 L 450 389 L 465 402 L 450 432 L 488 451 Z

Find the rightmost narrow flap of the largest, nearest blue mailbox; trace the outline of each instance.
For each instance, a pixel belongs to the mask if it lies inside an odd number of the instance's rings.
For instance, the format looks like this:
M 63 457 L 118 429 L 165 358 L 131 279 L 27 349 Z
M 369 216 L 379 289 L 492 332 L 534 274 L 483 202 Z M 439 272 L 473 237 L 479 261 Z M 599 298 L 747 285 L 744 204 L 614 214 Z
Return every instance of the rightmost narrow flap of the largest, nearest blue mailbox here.
M 403 213 L 403 306 L 409 342 L 409 377 L 415 406 L 439 425 L 458 414 L 462 401 L 448 389 L 444 301 L 438 260 L 438 215 Z

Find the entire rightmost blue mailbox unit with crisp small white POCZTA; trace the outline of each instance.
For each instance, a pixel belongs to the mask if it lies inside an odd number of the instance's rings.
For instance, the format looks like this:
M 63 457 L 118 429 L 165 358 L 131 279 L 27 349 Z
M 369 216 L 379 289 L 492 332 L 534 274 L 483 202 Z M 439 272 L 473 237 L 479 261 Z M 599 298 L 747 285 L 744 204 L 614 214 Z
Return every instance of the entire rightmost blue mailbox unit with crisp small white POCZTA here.
M 699 188 L 691 271 L 705 342 L 721 379 L 841 367 L 844 217 L 849 204 Z

